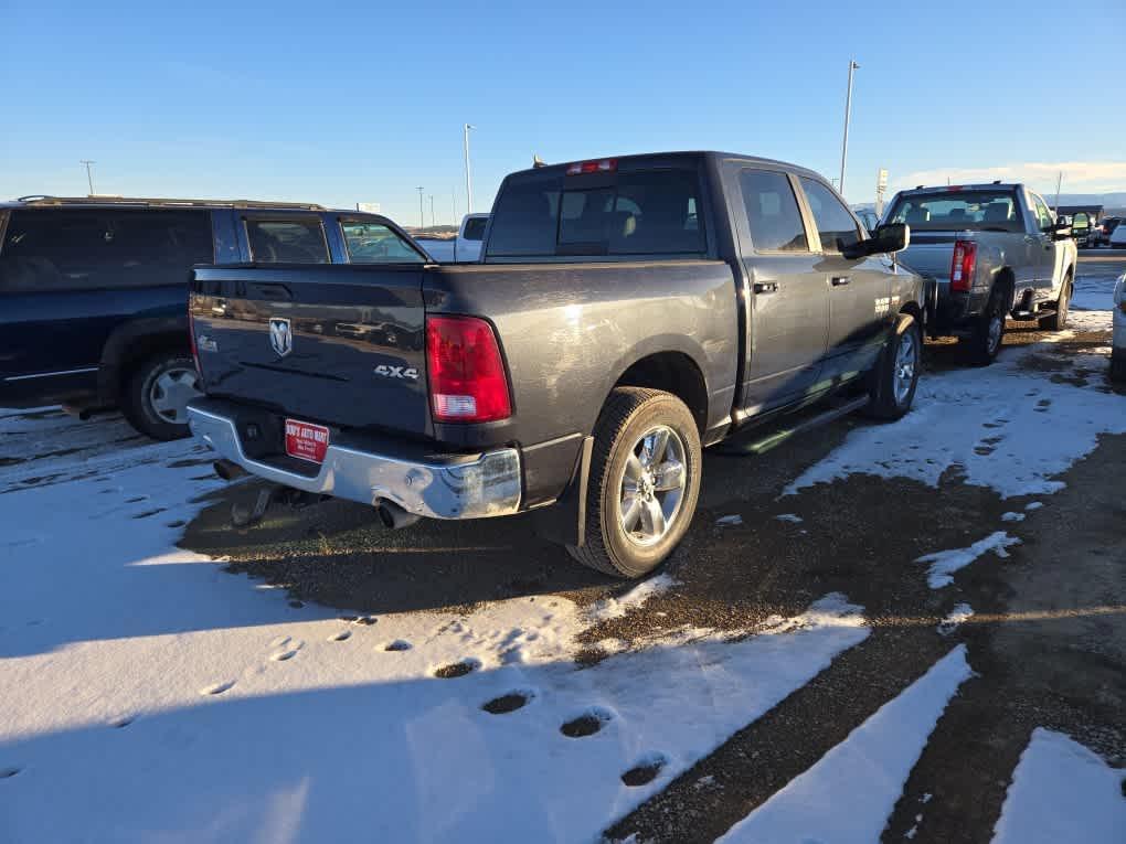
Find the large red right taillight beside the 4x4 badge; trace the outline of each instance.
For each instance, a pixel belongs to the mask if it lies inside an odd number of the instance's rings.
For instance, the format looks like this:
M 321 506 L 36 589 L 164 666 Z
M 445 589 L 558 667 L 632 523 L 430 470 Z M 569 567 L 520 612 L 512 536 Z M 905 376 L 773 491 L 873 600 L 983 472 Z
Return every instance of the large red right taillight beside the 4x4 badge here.
M 512 415 L 492 325 L 475 316 L 428 316 L 426 352 L 435 422 L 493 422 Z

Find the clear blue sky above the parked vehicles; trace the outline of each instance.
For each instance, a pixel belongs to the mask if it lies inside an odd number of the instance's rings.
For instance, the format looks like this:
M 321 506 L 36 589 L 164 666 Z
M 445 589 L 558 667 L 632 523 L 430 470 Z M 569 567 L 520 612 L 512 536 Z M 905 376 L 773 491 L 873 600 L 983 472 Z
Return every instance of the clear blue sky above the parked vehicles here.
M 644 9 L 644 11 L 642 10 Z M 844 192 L 1025 178 L 1126 190 L 1126 5 L 0 0 L 0 197 L 377 201 L 437 222 L 546 161 L 723 149 Z M 963 178 L 965 177 L 965 178 Z

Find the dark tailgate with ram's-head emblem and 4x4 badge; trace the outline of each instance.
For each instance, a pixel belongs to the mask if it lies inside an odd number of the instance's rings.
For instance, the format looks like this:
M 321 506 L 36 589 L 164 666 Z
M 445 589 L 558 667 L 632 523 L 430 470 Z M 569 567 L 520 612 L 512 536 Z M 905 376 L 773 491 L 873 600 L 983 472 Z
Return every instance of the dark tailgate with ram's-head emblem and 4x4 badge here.
M 340 428 L 428 433 L 422 272 L 197 268 L 189 308 L 207 393 Z

